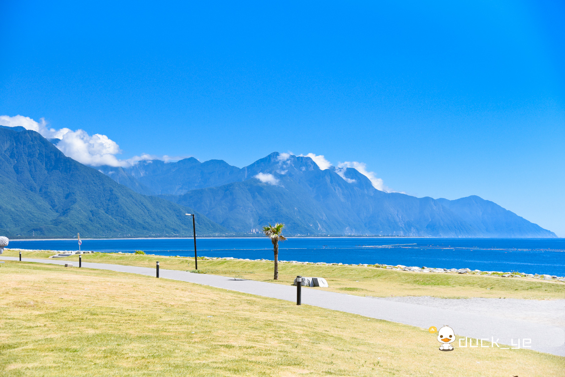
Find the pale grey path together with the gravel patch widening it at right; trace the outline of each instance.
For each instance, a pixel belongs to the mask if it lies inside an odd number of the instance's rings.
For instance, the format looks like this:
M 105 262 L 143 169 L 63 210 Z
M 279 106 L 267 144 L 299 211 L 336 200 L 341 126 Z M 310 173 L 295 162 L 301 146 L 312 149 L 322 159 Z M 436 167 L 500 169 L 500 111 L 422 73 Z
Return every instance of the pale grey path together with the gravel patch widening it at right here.
M 16 257 L 0 257 L 0 259 L 18 260 Z M 61 260 L 28 258 L 23 258 L 23 261 L 58 265 L 66 263 Z M 76 262 L 73 262 L 73 264 L 76 266 Z M 82 266 L 155 276 L 154 268 L 89 262 L 83 262 Z M 198 283 L 286 301 L 296 300 L 297 288 L 283 284 L 165 269 L 160 269 L 159 274 L 161 278 Z M 485 339 L 483 346 L 486 347 L 485 352 L 486 350 L 513 352 L 512 349 L 503 349 L 504 344 L 516 347 L 518 341 L 521 341 L 520 347 L 522 347 L 523 339 L 531 339 L 531 349 L 559 356 L 565 356 L 565 329 L 563 328 L 562 314 L 559 313 L 559 310 L 563 310 L 563 301 L 565 300 L 498 299 L 497 301 L 497 299 L 436 299 L 433 297 L 387 297 L 381 299 L 302 288 L 303 304 L 421 328 L 430 326 L 440 328 L 449 325 L 455 330 L 455 334 L 460 336 Z M 494 309 L 492 306 L 494 306 Z M 545 315 L 546 312 L 551 314 Z M 493 345 L 491 340 L 497 341 L 500 346 Z M 458 347 L 458 344 L 454 344 L 454 346 Z

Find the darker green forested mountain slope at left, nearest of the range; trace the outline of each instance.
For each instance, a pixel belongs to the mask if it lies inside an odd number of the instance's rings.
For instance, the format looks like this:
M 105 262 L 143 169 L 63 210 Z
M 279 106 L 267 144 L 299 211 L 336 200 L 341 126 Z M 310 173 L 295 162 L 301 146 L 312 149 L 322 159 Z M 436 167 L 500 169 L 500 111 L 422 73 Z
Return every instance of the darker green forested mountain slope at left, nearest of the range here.
M 192 235 L 193 210 L 140 195 L 35 131 L 0 128 L 0 234 L 11 238 Z M 197 234 L 225 233 L 198 214 Z

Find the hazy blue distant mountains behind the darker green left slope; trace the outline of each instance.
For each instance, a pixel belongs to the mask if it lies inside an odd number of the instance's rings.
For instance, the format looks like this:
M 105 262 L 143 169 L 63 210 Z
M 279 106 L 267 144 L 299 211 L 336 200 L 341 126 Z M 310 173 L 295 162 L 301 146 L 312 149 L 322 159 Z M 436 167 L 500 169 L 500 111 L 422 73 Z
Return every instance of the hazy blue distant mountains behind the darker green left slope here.
M 555 237 L 478 196 L 450 201 L 387 193 L 353 168 L 321 170 L 310 157 L 276 152 L 242 169 L 190 158 L 101 171 L 138 192 L 148 188 L 195 208 L 238 233 L 279 221 L 288 234 Z

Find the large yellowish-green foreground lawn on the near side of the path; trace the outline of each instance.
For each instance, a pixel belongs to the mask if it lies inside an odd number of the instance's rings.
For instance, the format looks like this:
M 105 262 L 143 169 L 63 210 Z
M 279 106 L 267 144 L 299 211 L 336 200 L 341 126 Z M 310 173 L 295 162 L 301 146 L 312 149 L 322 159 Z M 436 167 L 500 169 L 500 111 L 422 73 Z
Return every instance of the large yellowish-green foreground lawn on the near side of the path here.
M 565 366 L 457 341 L 441 352 L 421 328 L 144 275 L 6 261 L 0 281 L 2 376 L 523 377 Z

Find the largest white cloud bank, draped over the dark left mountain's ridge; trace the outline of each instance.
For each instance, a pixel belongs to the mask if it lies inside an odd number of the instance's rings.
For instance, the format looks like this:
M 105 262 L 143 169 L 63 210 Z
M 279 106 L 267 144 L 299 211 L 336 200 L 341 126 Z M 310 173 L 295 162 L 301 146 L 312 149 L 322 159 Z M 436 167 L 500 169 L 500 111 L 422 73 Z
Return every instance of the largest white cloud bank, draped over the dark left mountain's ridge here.
M 120 160 L 116 157 L 117 154 L 121 153 L 120 147 L 106 135 L 94 134 L 91 136 L 81 129 L 73 131 L 68 128 L 59 130 L 47 128 L 47 122 L 43 118 L 40 119 L 40 122 L 36 122 L 27 116 L 16 115 L 11 117 L 2 115 L 0 116 L 0 124 L 9 127 L 22 126 L 27 130 L 37 131 L 45 138 L 60 139 L 56 147 L 65 156 L 71 157 L 85 165 L 125 167 L 135 165 L 138 161 L 157 159 L 156 156 L 142 154 L 131 159 Z

